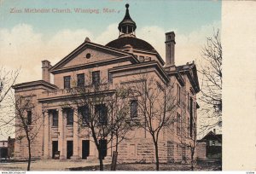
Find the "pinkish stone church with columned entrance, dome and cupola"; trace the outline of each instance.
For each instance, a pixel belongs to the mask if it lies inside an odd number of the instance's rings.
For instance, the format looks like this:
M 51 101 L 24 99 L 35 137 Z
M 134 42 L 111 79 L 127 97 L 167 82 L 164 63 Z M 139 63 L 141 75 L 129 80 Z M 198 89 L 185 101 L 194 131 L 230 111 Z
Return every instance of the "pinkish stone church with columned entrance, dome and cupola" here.
M 114 91 L 119 84 L 129 83 L 136 76 L 147 74 L 163 83 L 172 81 L 176 98 L 184 107 L 177 107 L 172 132 L 162 132 L 159 140 L 160 162 L 180 162 L 189 159 L 190 150 L 180 142 L 180 137 L 192 139 L 196 129 L 196 94 L 200 91 L 195 62 L 181 66 L 175 64 L 175 33 L 166 32 L 166 57 L 160 56 L 147 41 L 137 38 L 136 22 L 125 5 L 125 17 L 119 23 L 119 37 L 106 45 L 96 44 L 85 38 L 84 43 L 51 65 L 50 60 L 42 61 L 42 79 L 15 84 L 16 96 L 32 94 L 34 107 L 27 110 L 27 117 L 34 113 L 42 115 L 43 125 L 32 142 L 33 159 L 97 159 L 96 145 L 91 132 L 81 131 L 78 120 L 79 108 L 67 108 L 64 101 L 72 97 L 72 89 L 90 84 L 101 85 L 103 79 Z M 155 37 L 157 39 L 157 36 Z M 185 51 L 185 50 L 184 50 Z M 166 60 L 166 61 L 164 61 Z M 90 77 L 90 78 L 88 78 Z M 72 100 L 72 99 L 70 99 Z M 131 101 L 134 102 L 134 101 Z M 131 117 L 137 105 L 131 103 Z M 194 120 L 194 121 L 193 121 Z M 16 120 L 18 121 L 18 120 Z M 31 126 L 39 126 L 31 123 Z M 143 135 L 143 136 L 142 136 Z M 19 137 L 18 133 L 15 135 Z M 110 147 L 108 143 L 104 146 Z M 108 148 L 105 159 L 111 159 L 114 149 Z M 15 158 L 26 159 L 28 154 L 26 138 L 15 142 Z M 137 132 L 134 137 L 119 144 L 119 161 L 154 162 L 152 137 Z

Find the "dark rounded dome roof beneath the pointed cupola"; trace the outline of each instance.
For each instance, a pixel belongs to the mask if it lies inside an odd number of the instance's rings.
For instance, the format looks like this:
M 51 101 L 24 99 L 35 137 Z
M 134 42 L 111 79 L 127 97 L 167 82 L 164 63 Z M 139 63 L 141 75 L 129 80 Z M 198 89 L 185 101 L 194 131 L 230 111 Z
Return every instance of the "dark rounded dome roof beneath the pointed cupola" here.
M 146 41 L 135 37 L 120 37 L 109 42 L 106 44 L 106 46 L 112 47 L 114 49 L 122 49 L 126 44 L 130 44 L 134 49 L 141 49 L 157 53 L 151 44 L 148 44 Z

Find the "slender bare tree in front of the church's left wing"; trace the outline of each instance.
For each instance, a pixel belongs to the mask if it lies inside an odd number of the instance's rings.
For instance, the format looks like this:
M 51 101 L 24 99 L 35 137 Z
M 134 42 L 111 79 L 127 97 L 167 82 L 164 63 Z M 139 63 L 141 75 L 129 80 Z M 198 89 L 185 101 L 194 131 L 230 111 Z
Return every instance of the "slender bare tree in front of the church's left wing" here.
M 32 160 L 32 142 L 38 136 L 43 125 L 42 114 L 36 112 L 33 95 L 15 96 L 15 132 L 16 140 L 26 138 L 28 149 L 27 171 L 30 171 Z

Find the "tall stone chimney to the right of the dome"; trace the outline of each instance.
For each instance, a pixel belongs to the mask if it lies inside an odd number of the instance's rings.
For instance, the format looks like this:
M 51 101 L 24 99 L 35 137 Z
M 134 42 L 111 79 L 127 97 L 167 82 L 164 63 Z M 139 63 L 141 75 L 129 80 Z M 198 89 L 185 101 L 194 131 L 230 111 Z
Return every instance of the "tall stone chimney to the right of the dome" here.
M 173 66 L 175 54 L 175 33 L 166 32 L 166 66 Z

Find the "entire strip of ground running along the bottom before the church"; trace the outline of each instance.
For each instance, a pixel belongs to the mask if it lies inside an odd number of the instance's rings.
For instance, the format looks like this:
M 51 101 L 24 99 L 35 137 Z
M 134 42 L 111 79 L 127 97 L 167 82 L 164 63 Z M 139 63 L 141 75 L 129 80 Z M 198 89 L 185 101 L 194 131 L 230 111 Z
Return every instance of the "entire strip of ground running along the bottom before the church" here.
M 26 162 L 0 163 L 0 171 L 26 171 Z M 37 160 L 32 161 L 32 171 L 99 171 L 98 160 Z M 154 171 L 155 164 L 118 164 L 117 171 Z M 160 164 L 160 171 L 190 171 L 191 165 Z M 104 161 L 104 171 L 110 171 L 110 162 Z M 195 171 L 221 171 L 217 161 L 201 161 Z

